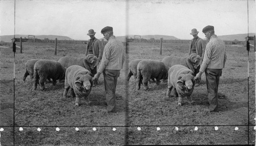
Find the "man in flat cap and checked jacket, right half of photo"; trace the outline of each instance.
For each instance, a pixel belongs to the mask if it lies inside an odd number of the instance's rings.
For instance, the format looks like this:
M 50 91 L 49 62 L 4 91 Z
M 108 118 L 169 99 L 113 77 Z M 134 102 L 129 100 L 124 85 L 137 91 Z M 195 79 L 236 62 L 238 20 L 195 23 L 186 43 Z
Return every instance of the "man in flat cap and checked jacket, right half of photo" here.
M 196 75 L 196 79 L 201 78 L 205 73 L 206 85 L 208 91 L 209 108 L 207 112 L 218 112 L 218 86 L 222 69 L 225 67 L 227 60 L 225 43 L 220 40 L 214 32 L 214 26 L 205 26 L 203 28 L 205 37 L 209 40 L 206 45 L 203 63 L 200 72 Z

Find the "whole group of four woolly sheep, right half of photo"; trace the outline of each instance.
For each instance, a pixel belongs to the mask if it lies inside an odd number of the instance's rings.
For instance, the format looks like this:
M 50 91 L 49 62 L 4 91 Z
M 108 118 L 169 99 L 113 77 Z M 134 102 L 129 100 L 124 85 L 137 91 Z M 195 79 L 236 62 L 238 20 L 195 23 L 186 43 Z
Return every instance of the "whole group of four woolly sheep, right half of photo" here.
M 129 81 L 133 75 L 137 81 L 137 90 L 140 90 L 141 83 L 144 90 L 148 90 L 150 79 L 156 79 L 157 85 L 160 80 L 168 79 L 166 96 L 170 96 L 174 87 L 179 105 L 181 105 L 184 97 L 187 97 L 191 103 L 190 95 L 196 85 L 195 76 L 197 72 L 195 69 L 201 64 L 202 59 L 196 53 L 187 57 L 166 56 L 162 61 L 136 59 L 129 63 L 130 71 L 127 80 Z

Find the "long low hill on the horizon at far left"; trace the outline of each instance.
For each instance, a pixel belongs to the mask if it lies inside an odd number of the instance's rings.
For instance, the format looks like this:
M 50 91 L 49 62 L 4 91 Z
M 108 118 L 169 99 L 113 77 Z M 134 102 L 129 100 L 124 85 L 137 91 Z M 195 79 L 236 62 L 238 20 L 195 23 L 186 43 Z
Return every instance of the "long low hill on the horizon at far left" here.
M 4 42 L 11 42 L 11 39 L 13 38 L 13 35 L 8 35 L 8 36 L 0 36 L 0 41 Z M 28 35 L 15 35 L 15 38 L 28 38 Z M 55 36 L 55 35 L 40 35 L 40 36 L 35 36 L 37 39 L 44 40 L 45 38 L 48 38 L 49 40 L 55 40 L 57 38 L 58 40 L 73 40 L 70 37 L 66 36 Z

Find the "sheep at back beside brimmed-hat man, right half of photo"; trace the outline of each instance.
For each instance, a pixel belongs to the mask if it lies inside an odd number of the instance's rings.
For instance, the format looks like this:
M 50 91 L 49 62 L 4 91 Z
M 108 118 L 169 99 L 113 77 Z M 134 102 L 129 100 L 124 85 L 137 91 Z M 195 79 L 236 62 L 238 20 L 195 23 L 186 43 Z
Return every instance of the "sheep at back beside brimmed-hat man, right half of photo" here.
M 193 71 L 193 73 L 195 73 L 195 69 L 197 69 L 197 67 L 202 64 L 202 58 L 198 54 L 192 53 L 186 57 L 166 56 L 163 58 L 162 62 L 167 67 L 172 67 L 174 65 L 183 65 Z

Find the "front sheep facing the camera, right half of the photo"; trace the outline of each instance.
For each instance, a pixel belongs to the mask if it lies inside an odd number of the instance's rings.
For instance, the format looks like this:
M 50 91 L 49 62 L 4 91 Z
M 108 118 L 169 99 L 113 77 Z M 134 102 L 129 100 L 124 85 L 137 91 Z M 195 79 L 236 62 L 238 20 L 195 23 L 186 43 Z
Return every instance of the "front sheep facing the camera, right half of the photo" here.
M 182 98 L 187 97 L 192 102 L 190 95 L 195 87 L 195 74 L 193 71 L 182 65 L 174 65 L 168 71 L 168 85 L 166 96 L 170 96 L 170 92 L 174 87 L 174 93 L 178 98 L 178 104 L 181 106 Z

